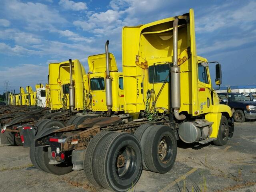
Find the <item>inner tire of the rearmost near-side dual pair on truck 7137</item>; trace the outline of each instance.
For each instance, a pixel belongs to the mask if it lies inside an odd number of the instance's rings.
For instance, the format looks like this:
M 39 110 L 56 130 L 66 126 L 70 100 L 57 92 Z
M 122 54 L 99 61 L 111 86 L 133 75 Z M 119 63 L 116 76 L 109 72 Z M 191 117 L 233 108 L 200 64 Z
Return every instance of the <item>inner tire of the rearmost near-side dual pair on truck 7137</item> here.
M 96 149 L 96 146 L 98 145 L 98 142 L 104 138 L 107 134 L 110 134 L 110 132 L 100 132 L 99 134 L 97 134 L 96 136 L 94 136 L 92 138 L 92 140 L 90 140 L 88 147 L 86 148 L 86 152 L 84 155 L 84 173 L 88 179 L 88 181 L 93 184 L 94 186 L 99 186 L 98 183 L 96 182 L 93 172 L 92 172 L 92 168 L 93 168 L 93 158 L 94 158 L 94 151 Z

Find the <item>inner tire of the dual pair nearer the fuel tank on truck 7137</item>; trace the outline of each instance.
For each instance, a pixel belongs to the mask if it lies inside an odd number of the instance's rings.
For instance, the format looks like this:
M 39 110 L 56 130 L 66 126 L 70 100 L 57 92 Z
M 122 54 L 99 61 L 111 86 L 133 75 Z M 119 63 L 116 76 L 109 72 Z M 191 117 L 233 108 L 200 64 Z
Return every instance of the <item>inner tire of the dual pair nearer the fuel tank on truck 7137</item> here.
M 140 126 L 140 127 L 138 127 L 137 128 L 137 130 L 135 131 L 135 133 L 134 133 L 134 136 L 136 136 L 136 138 L 139 140 L 139 142 L 140 142 L 140 146 L 141 146 L 141 148 L 142 148 L 142 154 L 143 154 L 143 148 L 145 147 L 145 145 L 147 144 L 147 140 L 146 140 L 146 137 L 143 137 L 142 138 L 142 136 L 143 136 L 143 134 L 145 133 L 146 135 L 148 134 L 148 131 L 150 130 L 150 129 L 148 129 L 148 127 L 150 127 L 151 125 L 150 124 L 144 124 L 144 125 L 142 125 L 142 126 Z M 143 155 L 142 155 L 143 156 Z M 143 164 L 143 170 L 146 170 L 146 171 L 148 171 L 148 168 L 147 168 L 147 166 L 146 166 L 146 163 L 145 163 L 145 160 L 144 160 L 144 156 L 142 157 L 143 158 L 143 160 L 142 160 L 142 164 Z

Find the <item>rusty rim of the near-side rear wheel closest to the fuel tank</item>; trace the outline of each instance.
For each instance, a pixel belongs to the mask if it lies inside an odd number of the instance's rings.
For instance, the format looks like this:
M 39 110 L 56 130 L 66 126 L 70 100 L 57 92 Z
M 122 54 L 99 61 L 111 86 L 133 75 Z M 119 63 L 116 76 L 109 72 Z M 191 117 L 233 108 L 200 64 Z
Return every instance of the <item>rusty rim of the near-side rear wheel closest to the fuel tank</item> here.
M 172 157 L 172 140 L 169 136 L 163 136 L 158 143 L 158 157 L 162 163 L 168 163 Z

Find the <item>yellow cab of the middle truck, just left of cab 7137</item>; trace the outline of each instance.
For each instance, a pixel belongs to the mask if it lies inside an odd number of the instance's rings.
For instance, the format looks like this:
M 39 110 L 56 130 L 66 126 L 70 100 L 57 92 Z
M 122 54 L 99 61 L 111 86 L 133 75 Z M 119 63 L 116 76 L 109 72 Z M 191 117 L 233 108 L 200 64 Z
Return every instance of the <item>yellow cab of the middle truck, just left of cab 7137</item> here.
M 112 53 L 110 58 L 110 76 L 112 83 L 112 112 L 124 111 L 124 87 L 122 72 L 118 72 L 116 59 Z M 106 112 L 106 55 L 98 54 L 88 57 L 89 93 L 92 95 L 92 111 Z

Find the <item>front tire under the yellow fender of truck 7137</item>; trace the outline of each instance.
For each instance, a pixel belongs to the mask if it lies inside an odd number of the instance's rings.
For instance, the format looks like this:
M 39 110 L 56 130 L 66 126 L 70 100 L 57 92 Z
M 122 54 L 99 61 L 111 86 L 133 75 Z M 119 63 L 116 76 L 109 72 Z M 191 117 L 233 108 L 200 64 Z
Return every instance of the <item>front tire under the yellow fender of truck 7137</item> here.
M 217 140 L 214 140 L 215 145 L 224 146 L 228 142 L 229 126 L 228 120 L 225 116 L 221 116 L 220 126 Z

